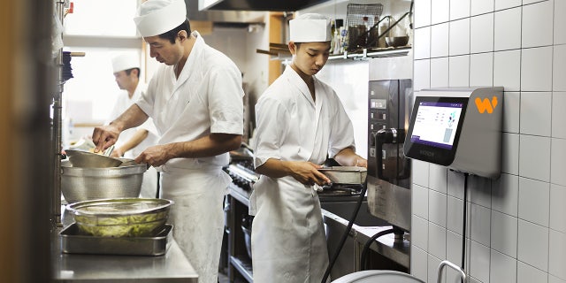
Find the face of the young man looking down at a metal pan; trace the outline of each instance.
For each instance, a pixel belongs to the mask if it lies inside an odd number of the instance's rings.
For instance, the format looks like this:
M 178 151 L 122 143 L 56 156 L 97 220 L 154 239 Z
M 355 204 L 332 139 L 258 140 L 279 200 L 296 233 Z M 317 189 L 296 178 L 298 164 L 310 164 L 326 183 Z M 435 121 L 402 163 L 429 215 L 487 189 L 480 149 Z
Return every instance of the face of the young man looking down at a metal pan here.
M 298 48 L 291 50 L 293 63 L 307 75 L 318 73 L 326 64 L 330 55 L 330 42 L 302 42 Z

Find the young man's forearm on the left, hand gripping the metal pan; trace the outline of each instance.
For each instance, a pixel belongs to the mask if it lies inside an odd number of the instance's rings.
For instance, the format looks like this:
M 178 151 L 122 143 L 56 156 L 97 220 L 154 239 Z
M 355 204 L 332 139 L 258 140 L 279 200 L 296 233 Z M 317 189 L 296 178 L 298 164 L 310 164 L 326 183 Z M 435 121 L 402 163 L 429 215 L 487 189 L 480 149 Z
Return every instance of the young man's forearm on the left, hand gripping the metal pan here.
M 264 164 L 256 168 L 256 172 L 272 178 L 292 176 L 302 184 L 312 186 L 315 183 L 319 186 L 329 184 L 330 180 L 325 174 L 318 172 L 322 168 L 319 164 L 307 161 L 284 161 L 269 158 Z

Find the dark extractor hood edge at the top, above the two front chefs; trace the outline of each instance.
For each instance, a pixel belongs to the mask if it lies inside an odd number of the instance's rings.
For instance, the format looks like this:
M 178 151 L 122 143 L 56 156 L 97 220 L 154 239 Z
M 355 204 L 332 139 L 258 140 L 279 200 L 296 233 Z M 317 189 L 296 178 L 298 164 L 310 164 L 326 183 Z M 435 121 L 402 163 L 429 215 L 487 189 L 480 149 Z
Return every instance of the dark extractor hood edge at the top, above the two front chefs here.
M 189 1 L 189 0 L 185 0 Z M 190 0 L 201 10 L 222 11 L 299 11 L 329 0 Z

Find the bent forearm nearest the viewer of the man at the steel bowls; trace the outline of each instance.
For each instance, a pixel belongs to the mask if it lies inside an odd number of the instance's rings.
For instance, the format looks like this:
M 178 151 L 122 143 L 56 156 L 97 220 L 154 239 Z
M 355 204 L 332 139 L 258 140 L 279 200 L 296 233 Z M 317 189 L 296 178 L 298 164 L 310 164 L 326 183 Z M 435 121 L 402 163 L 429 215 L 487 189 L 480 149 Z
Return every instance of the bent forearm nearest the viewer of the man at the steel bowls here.
M 172 142 L 149 147 L 135 158 L 137 163 L 161 166 L 172 158 L 214 157 L 240 149 L 241 134 L 209 134 L 190 142 Z

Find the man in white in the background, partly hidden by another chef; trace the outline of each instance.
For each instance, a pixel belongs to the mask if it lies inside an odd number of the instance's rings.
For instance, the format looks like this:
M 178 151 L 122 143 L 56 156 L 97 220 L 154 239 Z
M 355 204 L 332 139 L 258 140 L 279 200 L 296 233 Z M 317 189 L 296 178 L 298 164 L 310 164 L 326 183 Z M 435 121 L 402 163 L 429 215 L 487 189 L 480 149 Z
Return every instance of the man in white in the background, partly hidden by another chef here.
M 122 53 L 112 58 L 112 73 L 121 91 L 106 124 L 117 119 L 122 112 L 140 99 L 147 85 L 140 81 L 140 59 L 131 53 Z M 157 129 L 148 119 L 141 126 L 126 129 L 120 134 L 111 157 L 134 159 L 143 149 L 157 144 Z M 153 167 L 143 173 L 140 197 L 157 197 L 157 171 Z

